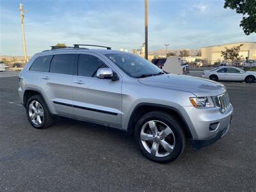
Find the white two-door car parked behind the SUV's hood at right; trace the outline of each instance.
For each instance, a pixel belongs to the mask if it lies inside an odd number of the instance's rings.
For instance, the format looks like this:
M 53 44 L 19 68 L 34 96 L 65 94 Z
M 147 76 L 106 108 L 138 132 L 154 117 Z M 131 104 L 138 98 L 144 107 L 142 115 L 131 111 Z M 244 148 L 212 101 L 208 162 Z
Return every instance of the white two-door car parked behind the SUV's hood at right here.
M 253 83 L 256 79 L 256 72 L 244 71 L 237 67 L 217 67 L 212 70 L 204 70 L 202 75 L 212 81 L 245 81 Z

